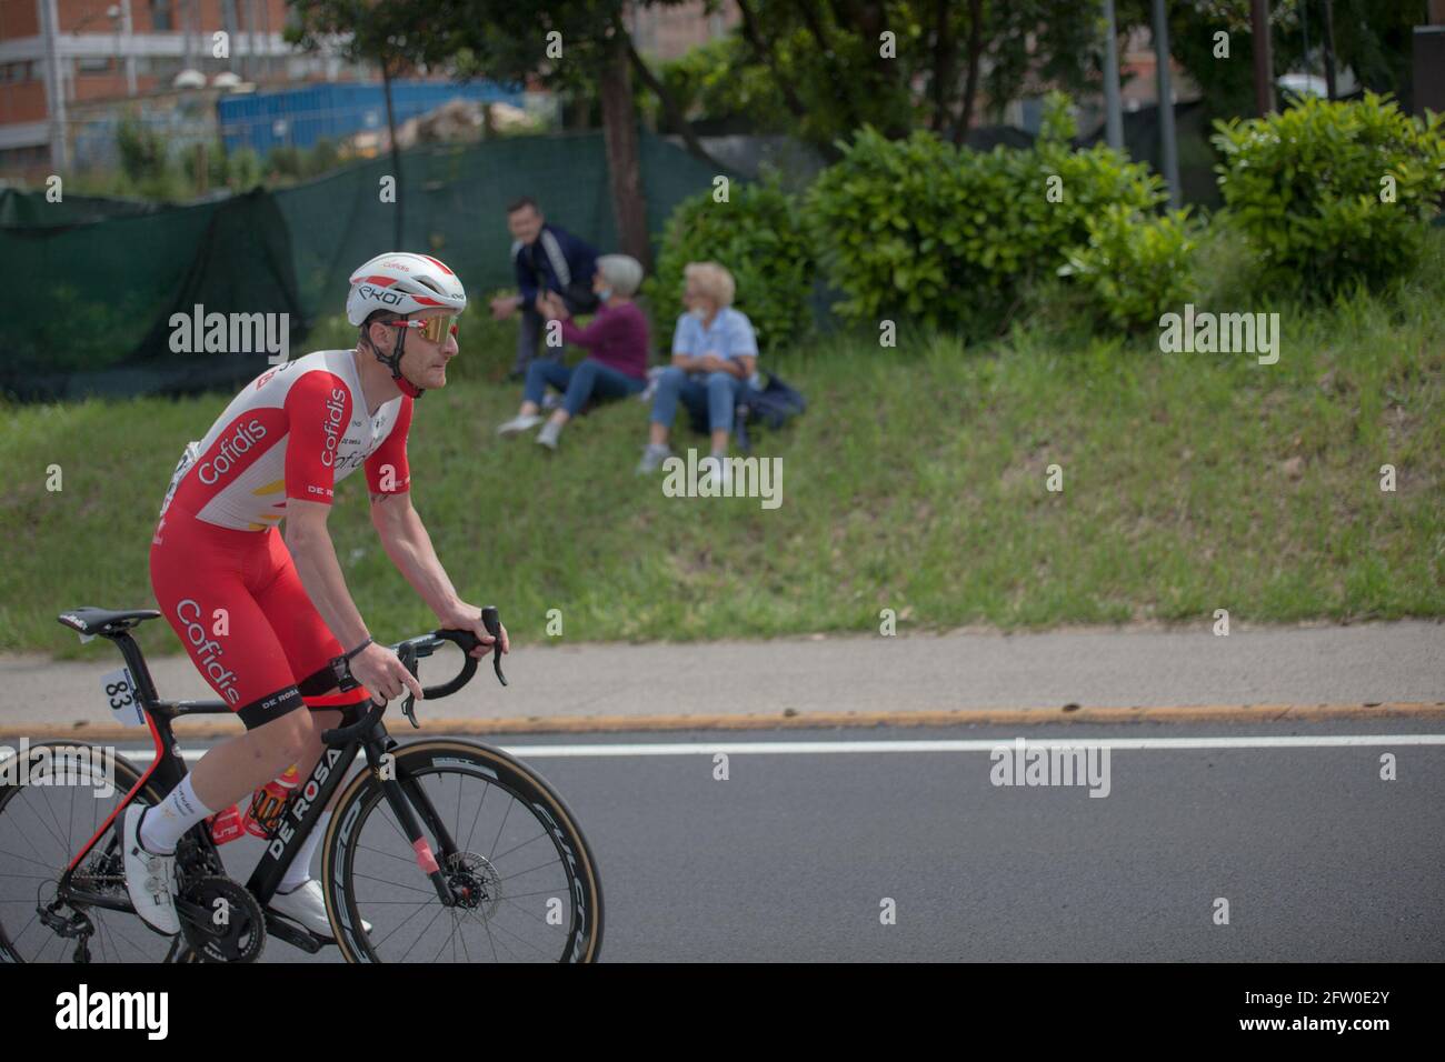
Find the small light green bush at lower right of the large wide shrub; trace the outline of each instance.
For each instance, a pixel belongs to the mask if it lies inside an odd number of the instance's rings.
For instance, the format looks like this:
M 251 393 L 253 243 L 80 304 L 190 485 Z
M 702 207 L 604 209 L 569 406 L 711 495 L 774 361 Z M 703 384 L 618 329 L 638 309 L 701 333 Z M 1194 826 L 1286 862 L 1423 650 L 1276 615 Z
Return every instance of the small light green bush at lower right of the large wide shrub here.
M 1069 249 L 1059 276 L 1072 276 L 1090 292 L 1098 316 L 1137 329 L 1185 301 L 1198 246 L 1188 208 L 1157 217 L 1110 204 L 1085 225 L 1088 243 Z

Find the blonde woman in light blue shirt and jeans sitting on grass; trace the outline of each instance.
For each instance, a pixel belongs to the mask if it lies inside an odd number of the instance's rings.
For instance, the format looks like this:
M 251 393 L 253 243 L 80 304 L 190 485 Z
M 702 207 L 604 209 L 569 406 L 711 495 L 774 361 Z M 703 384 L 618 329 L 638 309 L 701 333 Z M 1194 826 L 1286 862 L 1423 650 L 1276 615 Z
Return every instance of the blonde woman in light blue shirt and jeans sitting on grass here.
M 672 337 L 672 364 L 657 380 L 652 402 L 647 449 L 637 472 L 652 472 L 672 457 L 668 433 L 678 415 L 678 400 L 708 410 L 711 457 L 727 455 L 733 407 L 744 384 L 757 386 L 757 338 L 747 315 L 733 309 L 737 285 L 715 262 L 692 262 L 682 270 L 688 308 Z

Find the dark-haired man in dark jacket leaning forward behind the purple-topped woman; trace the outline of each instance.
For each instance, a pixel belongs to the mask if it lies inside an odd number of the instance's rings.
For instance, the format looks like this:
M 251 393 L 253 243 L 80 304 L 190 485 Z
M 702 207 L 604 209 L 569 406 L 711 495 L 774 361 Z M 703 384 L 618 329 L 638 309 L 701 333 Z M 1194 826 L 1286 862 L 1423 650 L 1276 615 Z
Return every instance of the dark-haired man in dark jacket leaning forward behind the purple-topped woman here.
M 556 292 L 569 314 L 591 314 L 597 309 L 597 296 L 591 288 L 592 273 L 597 272 L 597 251 L 571 233 L 546 224 L 542 210 L 530 197 L 523 197 L 507 208 L 507 228 L 512 230 L 512 264 L 522 293 L 493 299 L 491 316 L 506 321 L 522 311 L 517 363 L 512 368 L 512 374 L 520 377 L 538 355 L 542 301 L 548 292 Z M 562 347 L 546 354 L 552 358 L 561 355 Z

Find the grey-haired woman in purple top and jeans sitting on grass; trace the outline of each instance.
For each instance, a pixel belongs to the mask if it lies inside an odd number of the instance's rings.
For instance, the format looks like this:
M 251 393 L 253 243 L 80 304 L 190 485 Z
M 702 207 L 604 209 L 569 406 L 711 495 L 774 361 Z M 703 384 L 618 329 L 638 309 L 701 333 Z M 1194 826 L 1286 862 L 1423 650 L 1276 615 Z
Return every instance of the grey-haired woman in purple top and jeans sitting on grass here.
M 647 318 L 631 301 L 642 283 L 642 264 L 626 254 L 597 259 L 592 290 L 600 306 L 587 328 L 578 328 L 559 298 L 545 303 L 543 316 L 562 322 L 562 340 L 590 353 L 574 368 L 561 360 L 533 361 L 527 368 L 522 409 L 497 428 L 516 435 L 542 423 L 542 394 L 548 384 L 562 392 L 562 406 L 538 432 L 538 442 L 556 449 L 558 436 L 588 399 L 620 399 L 647 386 Z

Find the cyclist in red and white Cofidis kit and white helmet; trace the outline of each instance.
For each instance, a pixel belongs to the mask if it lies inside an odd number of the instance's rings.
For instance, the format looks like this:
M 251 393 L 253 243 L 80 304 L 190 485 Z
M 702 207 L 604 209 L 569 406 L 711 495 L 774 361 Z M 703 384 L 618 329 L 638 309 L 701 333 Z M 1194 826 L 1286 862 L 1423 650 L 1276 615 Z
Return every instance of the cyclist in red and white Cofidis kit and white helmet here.
M 387 556 L 439 626 L 475 634 L 483 644 L 473 656 L 493 643 L 481 610 L 457 595 L 436 559 L 412 507 L 406 461 L 415 400 L 447 386 L 465 308 L 461 280 L 436 259 L 371 259 L 351 276 L 347 298 L 347 319 L 360 328 L 355 350 L 316 351 L 262 373 L 176 467 L 150 545 L 150 584 L 246 733 L 211 748 L 156 806 L 126 811 L 126 889 L 160 933 L 181 929 L 175 847 L 188 829 L 290 764 L 308 779 L 321 733 L 340 724 L 342 707 L 403 689 L 422 695 L 396 655 L 371 640 L 347 590 L 327 530 L 337 481 L 366 468 L 371 523 Z M 506 630 L 500 636 L 509 652 Z M 358 689 L 340 692 L 341 657 Z M 270 905 L 325 938 L 325 899 L 309 868 L 328 815 Z

